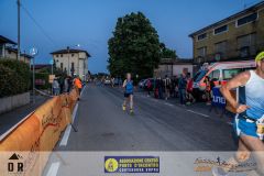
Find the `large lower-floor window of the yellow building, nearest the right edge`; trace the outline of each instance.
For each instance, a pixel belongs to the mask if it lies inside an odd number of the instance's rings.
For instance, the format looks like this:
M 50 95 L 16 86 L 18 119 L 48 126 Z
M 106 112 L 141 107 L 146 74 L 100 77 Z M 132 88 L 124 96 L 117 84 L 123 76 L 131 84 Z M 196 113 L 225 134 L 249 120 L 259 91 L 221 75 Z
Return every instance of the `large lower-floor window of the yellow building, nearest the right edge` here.
M 255 33 L 242 35 L 238 37 L 238 50 L 241 57 L 248 57 L 250 55 L 255 55 Z

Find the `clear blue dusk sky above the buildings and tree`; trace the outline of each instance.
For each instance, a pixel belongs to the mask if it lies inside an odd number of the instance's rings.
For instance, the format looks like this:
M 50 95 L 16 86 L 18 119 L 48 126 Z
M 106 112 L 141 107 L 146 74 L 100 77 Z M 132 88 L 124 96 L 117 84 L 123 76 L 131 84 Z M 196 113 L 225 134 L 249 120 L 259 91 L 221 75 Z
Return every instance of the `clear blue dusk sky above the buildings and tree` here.
M 160 41 L 191 58 L 188 35 L 260 0 L 21 0 L 43 30 L 21 9 L 21 47 L 38 48 L 36 63 L 48 63 L 53 51 L 80 44 L 91 55 L 91 73 L 107 72 L 108 40 L 117 19 L 143 12 L 157 30 Z M 16 0 L 0 0 L 0 35 L 16 42 Z

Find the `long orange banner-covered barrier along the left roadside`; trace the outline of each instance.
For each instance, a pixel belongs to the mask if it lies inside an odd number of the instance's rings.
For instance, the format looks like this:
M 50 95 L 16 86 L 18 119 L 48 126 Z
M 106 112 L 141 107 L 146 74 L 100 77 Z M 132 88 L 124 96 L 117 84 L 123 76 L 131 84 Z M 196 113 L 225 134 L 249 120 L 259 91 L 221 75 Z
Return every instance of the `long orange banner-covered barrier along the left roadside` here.
M 51 151 L 72 121 L 77 98 L 78 90 L 73 89 L 68 95 L 56 96 L 46 101 L 0 141 L 0 152 L 28 153 L 23 158 L 26 161 L 23 175 L 41 175 Z M 41 155 L 41 152 L 45 154 Z M 0 160 L 3 157 L 1 154 Z M 4 165 L 0 166 L 0 173 L 4 172 Z

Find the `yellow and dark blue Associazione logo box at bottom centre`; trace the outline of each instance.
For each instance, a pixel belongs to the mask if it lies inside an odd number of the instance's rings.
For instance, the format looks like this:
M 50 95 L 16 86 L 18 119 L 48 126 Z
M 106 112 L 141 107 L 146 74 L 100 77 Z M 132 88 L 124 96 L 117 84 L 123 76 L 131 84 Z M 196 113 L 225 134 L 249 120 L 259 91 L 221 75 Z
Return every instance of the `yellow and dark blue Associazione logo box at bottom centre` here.
M 105 173 L 160 173 L 160 157 L 105 156 Z

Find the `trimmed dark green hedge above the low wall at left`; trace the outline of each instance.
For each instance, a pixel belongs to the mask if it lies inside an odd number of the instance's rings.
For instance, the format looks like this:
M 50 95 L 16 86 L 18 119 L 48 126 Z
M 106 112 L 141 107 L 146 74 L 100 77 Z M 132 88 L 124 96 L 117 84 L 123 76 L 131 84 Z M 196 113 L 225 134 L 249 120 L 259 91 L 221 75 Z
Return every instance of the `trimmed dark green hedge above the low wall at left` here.
M 20 61 L 0 61 L 0 97 L 29 91 L 30 66 Z

